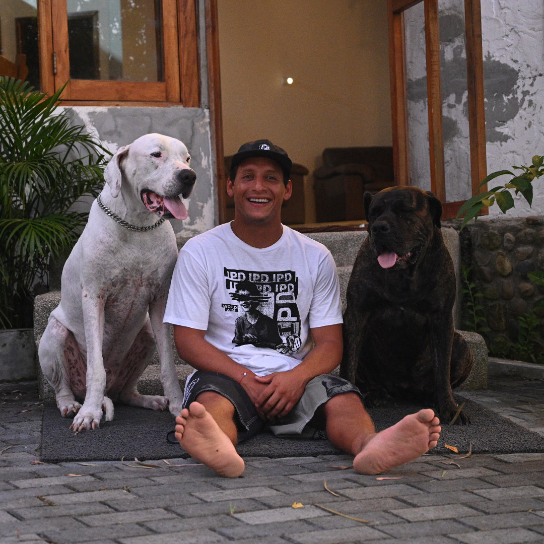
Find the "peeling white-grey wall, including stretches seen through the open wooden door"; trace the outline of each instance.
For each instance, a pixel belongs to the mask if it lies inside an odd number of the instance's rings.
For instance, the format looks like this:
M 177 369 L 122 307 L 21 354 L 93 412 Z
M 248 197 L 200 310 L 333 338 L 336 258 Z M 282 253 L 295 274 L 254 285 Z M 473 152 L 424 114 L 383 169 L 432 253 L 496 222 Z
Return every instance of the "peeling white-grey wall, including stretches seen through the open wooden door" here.
M 487 169 L 492 172 L 530 164 L 535 154 L 544 154 L 544 3 L 489 0 L 482 2 L 481 13 Z M 416 4 L 406 14 L 412 181 L 429 189 L 423 10 Z M 439 22 L 446 189 L 452 201 L 471 196 L 462 3 L 441 2 Z M 499 178 L 497 183 L 504 181 Z M 544 214 L 542 185 L 535 185 L 532 208 L 516 197 L 508 215 Z M 490 217 L 502 213 L 491 208 Z

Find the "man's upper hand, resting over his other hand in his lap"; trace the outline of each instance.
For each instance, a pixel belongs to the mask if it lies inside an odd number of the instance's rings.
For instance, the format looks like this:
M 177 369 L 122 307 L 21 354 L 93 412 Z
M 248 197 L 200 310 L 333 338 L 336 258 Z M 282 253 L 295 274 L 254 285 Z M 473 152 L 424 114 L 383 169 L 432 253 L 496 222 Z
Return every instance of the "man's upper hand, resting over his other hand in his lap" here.
M 255 381 L 264 386 L 255 403 L 257 411 L 265 418 L 274 420 L 287 416 L 298 403 L 308 378 L 295 367 L 286 372 L 255 376 Z

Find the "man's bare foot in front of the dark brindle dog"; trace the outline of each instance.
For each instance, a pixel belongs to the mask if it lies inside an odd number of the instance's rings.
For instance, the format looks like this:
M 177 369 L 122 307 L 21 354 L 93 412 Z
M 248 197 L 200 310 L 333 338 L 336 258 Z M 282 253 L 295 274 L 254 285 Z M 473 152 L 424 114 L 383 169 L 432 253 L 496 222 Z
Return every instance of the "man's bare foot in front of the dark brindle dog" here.
M 404 417 L 375 434 L 355 456 L 353 468 L 360 474 L 380 474 L 402 465 L 434 448 L 442 430 L 430 409 Z

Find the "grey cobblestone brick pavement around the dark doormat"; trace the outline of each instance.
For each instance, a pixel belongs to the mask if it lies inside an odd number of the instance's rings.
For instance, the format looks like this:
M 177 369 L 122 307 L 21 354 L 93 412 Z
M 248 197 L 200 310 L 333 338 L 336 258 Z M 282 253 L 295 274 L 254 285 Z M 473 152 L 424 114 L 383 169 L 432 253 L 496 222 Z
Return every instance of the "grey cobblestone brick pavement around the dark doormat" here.
M 544 382 L 489 387 L 463 394 L 544 434 Z M 41 417 L 34 382 L 0 385 L 1 544 L 544 542 L 544 454 L 429 454 L 384 477 L 251 458 L 224 479 L 191 460 L 42 464 Z

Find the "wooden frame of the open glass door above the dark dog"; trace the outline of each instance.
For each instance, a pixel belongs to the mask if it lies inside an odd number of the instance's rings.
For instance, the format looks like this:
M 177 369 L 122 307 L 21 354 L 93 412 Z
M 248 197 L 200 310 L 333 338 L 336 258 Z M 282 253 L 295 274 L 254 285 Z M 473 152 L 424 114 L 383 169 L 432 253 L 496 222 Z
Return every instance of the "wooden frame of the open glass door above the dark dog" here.
M 420 2 L 424 2 L 425 13 L 431 191 L 442 202 L 442 217 L 451 219 L 458 213 L 464 201 L 446 202 L 438 0 L 387 0 L 395 185 L 411 184 L 406 106 L 404 11 Z M 471 183 L 474 194 L 481 180 L 487 175 L 480 0 L 465 0 L 465 32 Z M 480 190 L 485 190 L 485 188 Z

